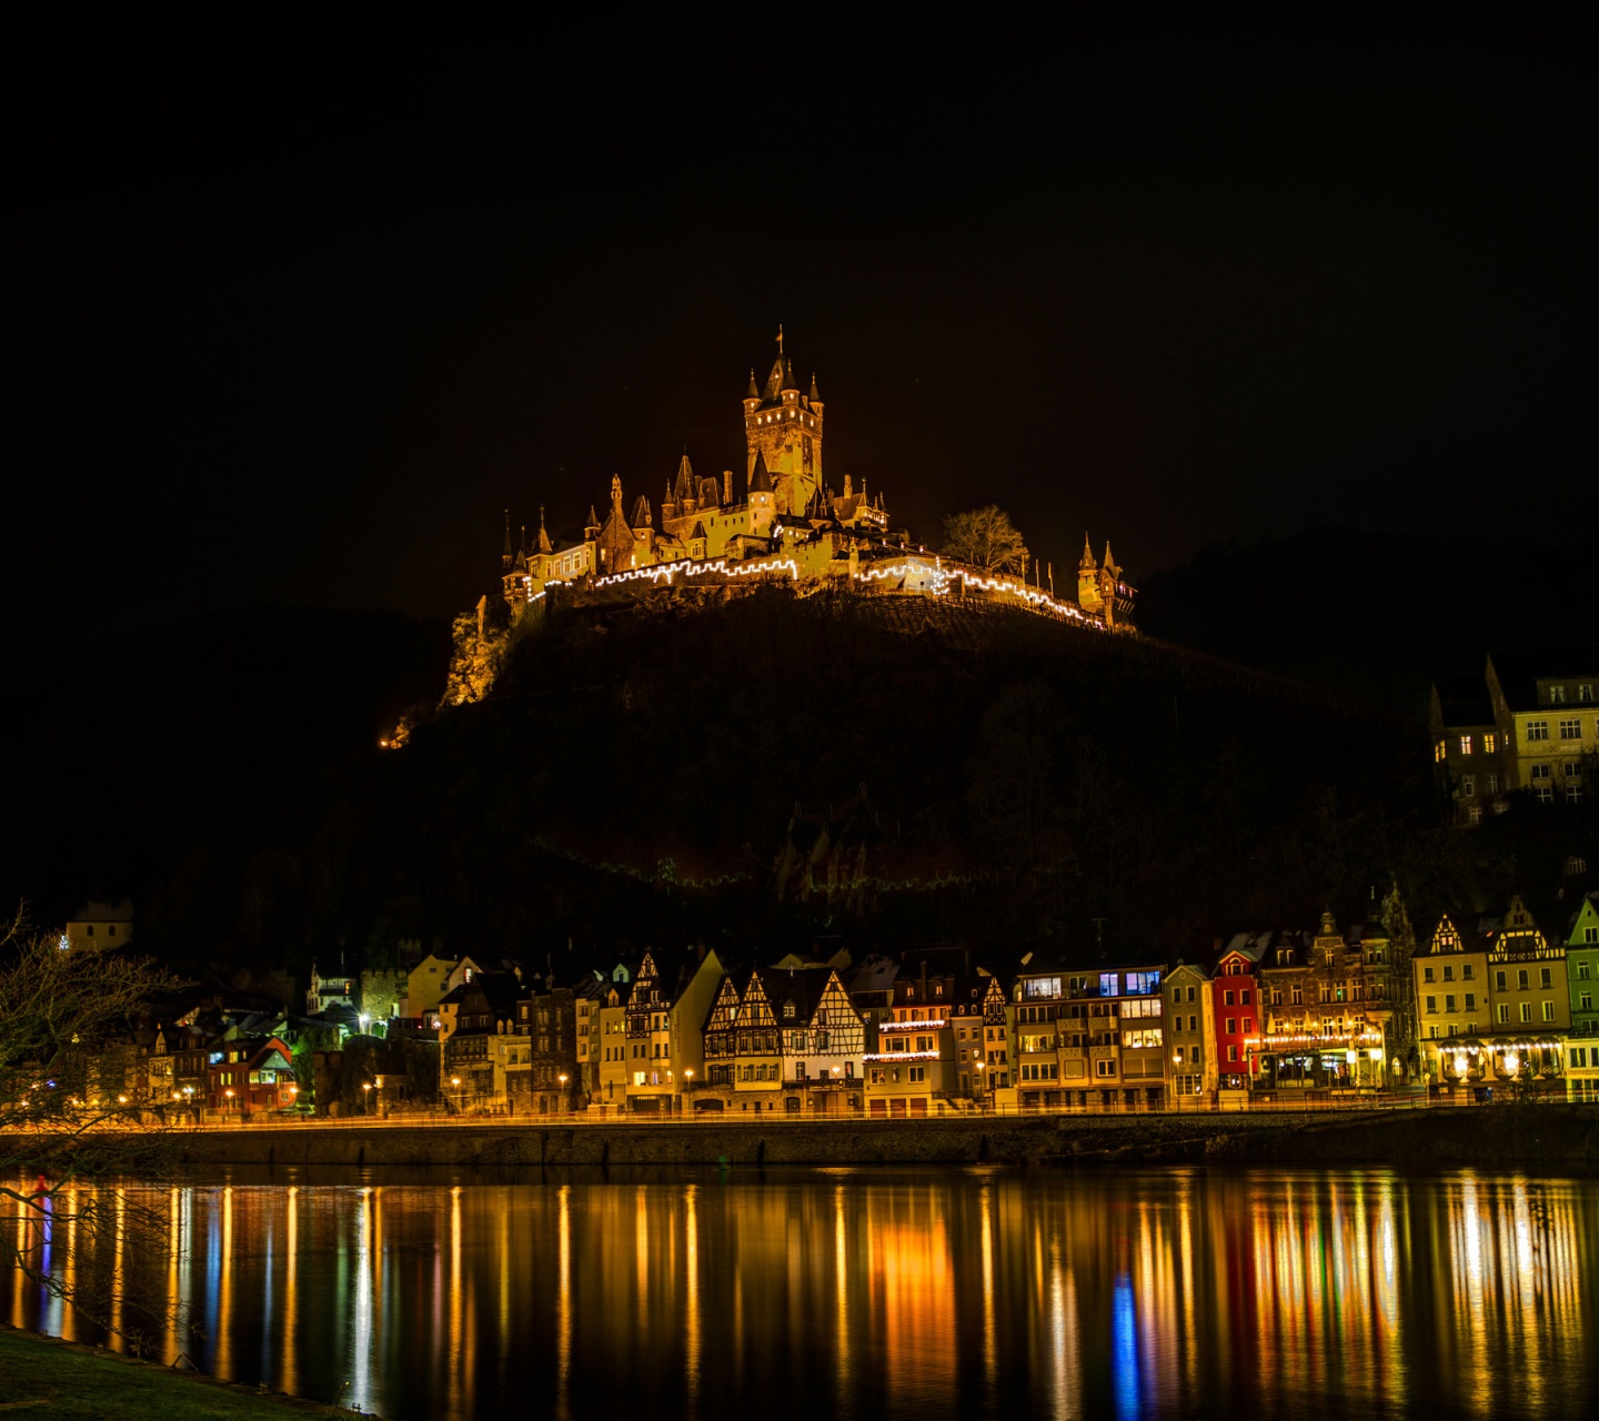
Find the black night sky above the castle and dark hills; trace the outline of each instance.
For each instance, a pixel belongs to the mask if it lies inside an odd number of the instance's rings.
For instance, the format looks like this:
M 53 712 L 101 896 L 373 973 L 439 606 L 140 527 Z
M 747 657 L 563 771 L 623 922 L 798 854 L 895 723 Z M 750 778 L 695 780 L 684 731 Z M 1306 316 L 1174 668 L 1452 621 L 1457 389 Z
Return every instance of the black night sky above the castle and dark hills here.
M 8 45 L 5 679 L 203 603 L 469 606 L 502 505 L 740 467 L 779 321 L 830 481 L 923 537 L 998 500 L 1142 575 L 1327 523 L 1578 535 L 1557 27 L 612 14 Z

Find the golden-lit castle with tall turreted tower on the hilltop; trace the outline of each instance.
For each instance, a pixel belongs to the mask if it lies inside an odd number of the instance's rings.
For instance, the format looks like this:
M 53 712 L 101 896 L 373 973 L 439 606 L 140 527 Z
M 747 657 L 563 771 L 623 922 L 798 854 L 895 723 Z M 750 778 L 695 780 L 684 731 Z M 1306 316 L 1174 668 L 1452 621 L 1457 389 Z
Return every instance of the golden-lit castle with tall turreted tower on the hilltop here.
M 982 567 L 951 561 L 913 545 L 903 531 L 891 531 L 883 492 L 867 491 L 844 475 L 827 481 L 822 464 L 823 403 L 815 376 L 803 388 L 779 334 L 777 360 L 764 384 L 750 371 L 744 395 L 745 467 L 740 489 L 734 472 L 696 473 L 684 451 L 676 476 L 665 480 L 659 505 L 638 492 L 627 505 L 622 480 L 611 478 L 611 497 L 601 516 L 566 534 L 550 535 L 539 507 L 539 526 L 529 543 L 521 529 L 513 543 L 505 513 L 500 555 L 500 593 L 512 622 L 542 617 L 552 606 L 584 606 L 636 598 L 656 588 L 720 588 L 723 596 L 761 582 L 787 582 L 800 593 L 838 587 L 860 593 L 918 596 L 979 596 L 1019 603 L 1035 612 L 1075 620 L 1099 630 L 1132 623 L 1134 588 L 1111 558 L 1094 556 L 1084 537 L 1076 598 L 1054 590 L 1044 564 L 1019 550 L 1020 567 Z M 494 615 L 489 599 L 478 603 L 475 644 L 457 646 L 457 662 L 492 660 Z M 467 628 L 457 628 L 457 643 Z M 462 679 L 475 684 L 488 670 Z M 448 699 L 475 699 L 470 692 Z

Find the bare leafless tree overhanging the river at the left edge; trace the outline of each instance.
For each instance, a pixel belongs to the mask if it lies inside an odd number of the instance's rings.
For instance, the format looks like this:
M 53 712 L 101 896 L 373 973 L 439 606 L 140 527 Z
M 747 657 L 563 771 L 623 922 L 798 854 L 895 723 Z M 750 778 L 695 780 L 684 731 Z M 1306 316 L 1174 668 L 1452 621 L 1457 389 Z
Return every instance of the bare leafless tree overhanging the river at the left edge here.
M 107 946 L 0 927 L 0 1268 L 141 1347 L 165 1300 L 147 1293 L 168 1216 L 136 1181 L 166 1159 L 138 1023 L 177 986 Z M 133 1261 L 138 1261 L 134 1266 Z

